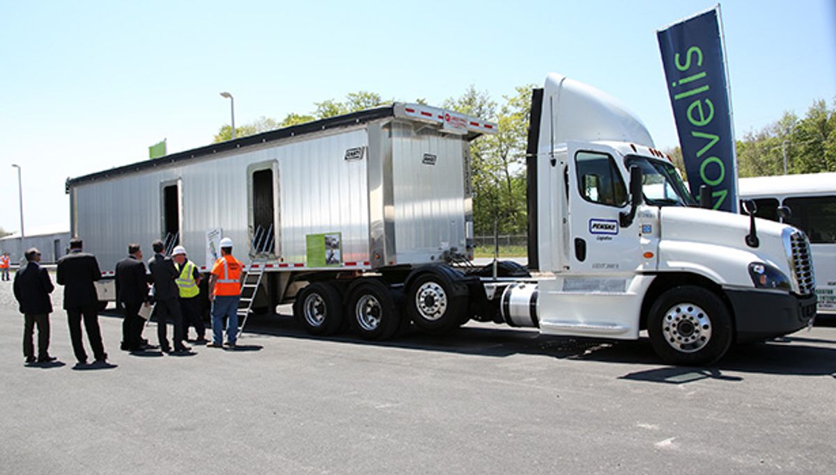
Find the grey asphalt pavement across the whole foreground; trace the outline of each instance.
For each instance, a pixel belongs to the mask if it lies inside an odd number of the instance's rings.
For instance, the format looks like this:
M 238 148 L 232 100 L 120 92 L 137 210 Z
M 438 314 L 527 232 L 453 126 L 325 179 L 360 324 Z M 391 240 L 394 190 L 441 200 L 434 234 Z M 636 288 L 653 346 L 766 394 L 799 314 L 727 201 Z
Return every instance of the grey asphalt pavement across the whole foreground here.
M 79 370 L 62 291 L 59 362 L 24 366 L 0 284 L 0 473 L 836 472 L 833 326 L 689 368 L 646 340 L 490 324 L 318 338 L 288 307 L 250 319 L 234 351 L 134 356 L 105 311 L 114 367 Z

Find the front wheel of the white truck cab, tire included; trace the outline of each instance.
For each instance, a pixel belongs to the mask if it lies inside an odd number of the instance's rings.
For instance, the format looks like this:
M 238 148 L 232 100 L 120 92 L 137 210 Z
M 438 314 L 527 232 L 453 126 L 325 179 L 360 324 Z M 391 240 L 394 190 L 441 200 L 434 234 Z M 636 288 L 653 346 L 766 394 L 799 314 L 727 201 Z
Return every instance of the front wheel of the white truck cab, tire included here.
M 732 345 L 732 318 L 715 294 L 680 286 L 665 291 L 650 307 L 647 332 L 663 361 L 704 365 L 719 360 Z

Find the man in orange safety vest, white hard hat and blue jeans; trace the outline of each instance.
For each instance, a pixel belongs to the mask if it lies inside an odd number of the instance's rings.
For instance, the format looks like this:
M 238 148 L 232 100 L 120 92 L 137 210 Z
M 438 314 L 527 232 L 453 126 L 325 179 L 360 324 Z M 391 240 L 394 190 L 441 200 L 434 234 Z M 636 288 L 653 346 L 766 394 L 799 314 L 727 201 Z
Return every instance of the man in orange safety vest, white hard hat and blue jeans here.
M 238 300 L 244 280 L 243 265 L 232 257 L 232 240 L 221 240 L 221 258 L 212 266 L 209 276 L 209 301 L 212 301 L 212 343 L 206 346 L 222 347 L 223 317 L 227 317 L 227 346 L 235 347 L 238 336 Z

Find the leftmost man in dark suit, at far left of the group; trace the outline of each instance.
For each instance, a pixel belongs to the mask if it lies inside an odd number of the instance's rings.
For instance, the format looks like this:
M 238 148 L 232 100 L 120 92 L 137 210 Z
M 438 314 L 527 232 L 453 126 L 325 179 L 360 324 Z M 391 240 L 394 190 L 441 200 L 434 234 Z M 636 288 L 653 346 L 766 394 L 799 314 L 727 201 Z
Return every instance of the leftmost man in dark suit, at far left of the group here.
M 38 324 L 38 362 L 55 361 L 49 356 L 49 314 L 52 313 L 52 301 L 49 294 L 55 289 L 49 273 L 41 267 L 41 253 L 36 248 L 26 251 L 27 264 L 14 275 L 14 298 L 18 299 L 20 312 L 23 313 L 23 356 L 27 363 L 35 362 L 35 349 L 32 343 L 35 324 Z

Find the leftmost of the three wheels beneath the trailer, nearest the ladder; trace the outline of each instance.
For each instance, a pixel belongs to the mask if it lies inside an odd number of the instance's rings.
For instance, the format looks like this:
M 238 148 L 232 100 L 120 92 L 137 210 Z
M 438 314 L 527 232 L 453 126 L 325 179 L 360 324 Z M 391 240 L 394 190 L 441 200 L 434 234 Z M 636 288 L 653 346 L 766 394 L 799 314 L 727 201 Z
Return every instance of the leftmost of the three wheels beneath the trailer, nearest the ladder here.
M 293 302 L 293 316 L 311 335 L 332 335 L 343 321 L 342 296 L 325 282 L 305 287 Z

